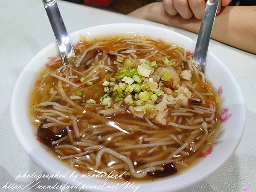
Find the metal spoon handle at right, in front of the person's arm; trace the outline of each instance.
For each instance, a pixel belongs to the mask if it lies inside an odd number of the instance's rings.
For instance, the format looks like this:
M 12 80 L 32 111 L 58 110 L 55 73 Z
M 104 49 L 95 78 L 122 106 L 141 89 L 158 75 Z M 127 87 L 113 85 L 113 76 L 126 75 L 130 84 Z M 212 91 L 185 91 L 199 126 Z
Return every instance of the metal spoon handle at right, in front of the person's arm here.
M 208 0 L 205 6 L 204 17 L 195 46 L 194 61 L 202 68 L 206 61 L 209 41 L 211 39 L 213 23 L 216 17 L 219 0 Z

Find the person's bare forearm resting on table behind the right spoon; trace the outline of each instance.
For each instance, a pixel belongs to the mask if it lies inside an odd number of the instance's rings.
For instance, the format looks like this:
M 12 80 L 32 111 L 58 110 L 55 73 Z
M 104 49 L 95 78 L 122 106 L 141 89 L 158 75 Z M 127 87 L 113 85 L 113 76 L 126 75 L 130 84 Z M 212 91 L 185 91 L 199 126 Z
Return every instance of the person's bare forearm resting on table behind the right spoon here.
M 170 16 L 163 3 L 151 3 L 129 15 L 198 33 L 201 20 Z M 256 54 L 256 6 L 227 6 L 216 16 L 212 39 Z

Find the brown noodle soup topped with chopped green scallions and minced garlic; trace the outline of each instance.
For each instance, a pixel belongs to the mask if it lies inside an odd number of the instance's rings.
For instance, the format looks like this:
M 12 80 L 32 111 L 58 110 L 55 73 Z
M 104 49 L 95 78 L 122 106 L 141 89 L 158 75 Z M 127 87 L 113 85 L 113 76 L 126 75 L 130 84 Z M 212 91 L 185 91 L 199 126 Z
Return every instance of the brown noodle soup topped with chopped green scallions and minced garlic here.
M 32 90 L 38 139 L 80 172 L 152 180 L 183 171 L 218 133 L 220 98 L 183 47 L 113 37 L 53 58 Z

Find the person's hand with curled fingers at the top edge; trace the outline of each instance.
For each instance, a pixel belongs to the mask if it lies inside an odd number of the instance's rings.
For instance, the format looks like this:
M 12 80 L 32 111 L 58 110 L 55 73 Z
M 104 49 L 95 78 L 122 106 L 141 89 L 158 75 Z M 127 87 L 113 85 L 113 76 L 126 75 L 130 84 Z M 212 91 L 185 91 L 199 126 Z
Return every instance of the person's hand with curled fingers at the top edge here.
M 221 6 L 227 6 L 232 0 L 220 0 L 218 12 Z M 202 19 L 204 15 L 206 0 L 163 0 L 164 10 L 169 15 L 180 14 L 184 19 L 190 19 L 193 15 L 197 19 Z

